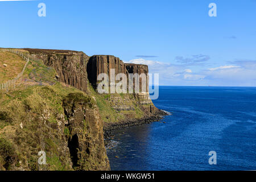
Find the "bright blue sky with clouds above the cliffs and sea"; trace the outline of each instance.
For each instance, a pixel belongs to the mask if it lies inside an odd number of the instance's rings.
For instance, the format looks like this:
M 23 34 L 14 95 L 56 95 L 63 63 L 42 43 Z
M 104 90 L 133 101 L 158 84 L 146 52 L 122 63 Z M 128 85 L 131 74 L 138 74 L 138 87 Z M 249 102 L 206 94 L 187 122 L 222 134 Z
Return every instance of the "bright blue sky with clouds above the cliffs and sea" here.
M 0 47 L 114 55 L 160 85 L 256 86 L 255 0 L 0 1 L 0 17 Z

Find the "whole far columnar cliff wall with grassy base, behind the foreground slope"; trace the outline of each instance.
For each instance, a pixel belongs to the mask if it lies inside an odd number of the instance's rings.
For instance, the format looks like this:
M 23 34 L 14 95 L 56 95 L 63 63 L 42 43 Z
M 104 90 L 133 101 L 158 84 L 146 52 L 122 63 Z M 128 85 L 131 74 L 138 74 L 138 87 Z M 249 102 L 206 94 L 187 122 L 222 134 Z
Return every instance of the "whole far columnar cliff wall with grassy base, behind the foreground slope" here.
M 122 122 L 127 119 L 152 117 L 159 110 L 152 104 L 148 93 L 146 80 L 146 93 L 137 94 L 97 94 L 97 76 L 106 73 L 110 77 L 110 69 L 115 70 L 115 76 L 124 73 L 127 78 L 130 73 L 148 73 L 147 65 L 126 64 L 118 57 L 111 55 L 87 56 L 83 52 L 25 49 L 37 59 L 42 59 L 44 64 L 56 70 L 60 81 L 94 96 L 100 108 L 101 117 L 106 123 Z M 92 86 L 92 89 L 90 89 Z M 139 89 L 142 88 L 142 78 L 139 80 Z M 96 93 L 94 92 L 96 91 Z M 113 111 L 114 109 L 114 111 Z M 109 114 L 105 110 L 112 110 Z

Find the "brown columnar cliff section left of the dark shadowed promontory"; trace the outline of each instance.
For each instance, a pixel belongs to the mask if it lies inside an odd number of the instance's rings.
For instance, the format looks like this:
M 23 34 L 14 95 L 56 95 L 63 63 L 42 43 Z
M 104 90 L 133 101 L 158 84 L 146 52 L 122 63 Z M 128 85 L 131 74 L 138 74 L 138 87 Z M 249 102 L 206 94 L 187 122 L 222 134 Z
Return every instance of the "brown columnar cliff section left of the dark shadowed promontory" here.
M 84 92 L 87 91 L 86 64 L 89 56 L 83 52 L 25 49 L 37 59 L 42 59 L 44 64 L 56 70 L 56 77 L 65 84 L 74 86 Z

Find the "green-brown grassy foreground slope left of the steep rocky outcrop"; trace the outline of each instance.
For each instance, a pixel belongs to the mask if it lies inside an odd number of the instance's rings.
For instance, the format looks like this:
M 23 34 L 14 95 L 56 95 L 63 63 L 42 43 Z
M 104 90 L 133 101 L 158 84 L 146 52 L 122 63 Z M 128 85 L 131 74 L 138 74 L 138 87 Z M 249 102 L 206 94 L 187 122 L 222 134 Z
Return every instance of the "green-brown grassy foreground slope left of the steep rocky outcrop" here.
M 37 153 L 42 147 L 47 152 L 46 169 L 72 169 L 56 150 L 64 134 L 64 129 L 57 130 L 57 119 L 65 115 L 62 107 L 65 96 L 84 93 L 55 81 L 55 74 L 54 69 L 36 60 L 28 64 L 15 88 L 9 92 L 0 90 L 0 169 L 12 165 L 18 168 L 20 163 L 27 162 L 29 169 L 38 169 Z M 46 125 L 42 125 L 40 117 L 47 119 Z

